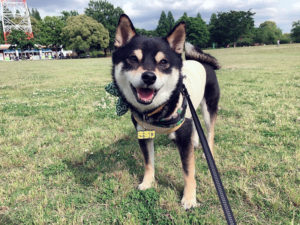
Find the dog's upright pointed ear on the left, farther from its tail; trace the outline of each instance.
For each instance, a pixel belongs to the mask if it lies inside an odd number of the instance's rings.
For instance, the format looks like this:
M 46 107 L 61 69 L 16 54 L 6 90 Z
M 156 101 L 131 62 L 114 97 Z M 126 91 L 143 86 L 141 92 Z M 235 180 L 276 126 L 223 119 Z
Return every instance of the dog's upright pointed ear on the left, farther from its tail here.
M 126 14 L 120 16 L 116 31 L 115 47 L 126 45 L 136 35 L 134 26 Z

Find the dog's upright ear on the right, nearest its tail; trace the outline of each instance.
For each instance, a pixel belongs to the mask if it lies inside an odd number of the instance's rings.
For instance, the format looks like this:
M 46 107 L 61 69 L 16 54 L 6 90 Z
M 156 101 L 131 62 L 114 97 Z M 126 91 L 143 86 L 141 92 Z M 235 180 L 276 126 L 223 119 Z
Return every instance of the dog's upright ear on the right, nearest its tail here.
M 181 54 L 184 49 L 185 37 L 186 37 L 185 23 L 180 22 L 168 34 L 167 41 L 169 42 L 170 47 L 176 53 Z

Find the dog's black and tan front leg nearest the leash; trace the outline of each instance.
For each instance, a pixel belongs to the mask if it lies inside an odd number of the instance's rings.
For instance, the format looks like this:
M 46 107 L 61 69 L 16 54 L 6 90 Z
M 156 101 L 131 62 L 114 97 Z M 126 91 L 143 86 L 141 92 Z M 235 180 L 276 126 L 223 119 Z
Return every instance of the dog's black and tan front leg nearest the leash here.
M 192 120 L 186 119 L 182 127 L 176 131 L 176 144 L 179 149 L 183 168 L 184 191 L 181 204 L 184 209 L 197 206 L 196 180 L 195 180 L 195 156 Z

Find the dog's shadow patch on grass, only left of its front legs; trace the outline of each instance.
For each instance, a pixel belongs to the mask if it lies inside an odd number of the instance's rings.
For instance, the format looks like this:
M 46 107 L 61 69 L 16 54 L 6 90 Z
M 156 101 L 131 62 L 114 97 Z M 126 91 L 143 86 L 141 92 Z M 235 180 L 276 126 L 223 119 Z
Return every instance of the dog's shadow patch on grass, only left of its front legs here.
M 109 146 L 101 147 L 101 140 L 98 140 L 92 148 L 92 153 L 87 153 L 81 162 L 65 160 L 64 163 L 74 174 L 77 183 L 91 185 L 100 173 L 111 173 L 115 170 L 127 169 L 130 174 L 141 175 L 143 164 L 137 162 L 141 159 L 134 158 L 138 149 L 135 133 L 117 140 Z

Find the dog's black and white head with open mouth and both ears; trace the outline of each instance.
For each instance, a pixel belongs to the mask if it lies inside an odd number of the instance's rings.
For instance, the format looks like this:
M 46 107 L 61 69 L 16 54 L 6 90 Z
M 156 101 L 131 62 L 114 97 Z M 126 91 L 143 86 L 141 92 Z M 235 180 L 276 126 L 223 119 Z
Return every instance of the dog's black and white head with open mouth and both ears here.
M 127 102 L 140 112 L 167 102 L 180 81 L 185 24 L 167 37 L 136 34 L 129 17 L 122 15 L 116 31 L 113 79 Z

